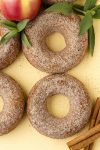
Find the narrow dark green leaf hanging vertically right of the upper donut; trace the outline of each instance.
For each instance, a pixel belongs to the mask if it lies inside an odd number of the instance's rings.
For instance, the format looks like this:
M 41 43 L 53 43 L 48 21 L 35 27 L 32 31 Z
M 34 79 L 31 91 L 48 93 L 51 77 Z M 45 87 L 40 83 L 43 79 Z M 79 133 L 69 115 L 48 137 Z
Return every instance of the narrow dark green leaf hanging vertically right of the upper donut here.
M 93 26 L 91 26 L 91 28 L 88 31 L 88 44 L 89 44 L 89 53 L 93 56 L 95 47 L 95 33 Z

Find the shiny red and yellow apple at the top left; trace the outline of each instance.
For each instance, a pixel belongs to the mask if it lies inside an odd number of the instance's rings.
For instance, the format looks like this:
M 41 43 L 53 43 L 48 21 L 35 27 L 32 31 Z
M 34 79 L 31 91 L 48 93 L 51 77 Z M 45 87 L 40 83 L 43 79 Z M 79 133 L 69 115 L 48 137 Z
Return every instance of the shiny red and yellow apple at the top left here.
M 0 11 L 12 21 L 33 19 L 41 7 L 41 0 L 0 0 Z

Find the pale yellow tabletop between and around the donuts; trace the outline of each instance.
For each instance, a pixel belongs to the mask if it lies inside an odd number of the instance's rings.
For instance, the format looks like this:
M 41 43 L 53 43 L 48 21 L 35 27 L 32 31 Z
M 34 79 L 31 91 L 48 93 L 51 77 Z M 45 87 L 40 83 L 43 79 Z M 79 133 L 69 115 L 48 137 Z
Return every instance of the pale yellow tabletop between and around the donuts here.
M 92 100 L 100 96 L 100 21 L 96 20 L 94 26 L 96 33 L 94 56 L 91 57 L 87 54 L 80 65 L 69 71 L 69 74 L 77 77 L 85 84 Z M 22 53 L 4 72 L 12 76 L 27 95 L 32 86 L 47 75 L 31 66 Z M 86 130 L 81 131 L 81 134 L 85 133 Z M 27 115 L 24 115 L 16 129 L 8 135 L 0 137 L 0 150 L 68 150 L 66 142 L 71 138 L 57 140 L 45 137 L 32 128 Z M 95 143 L 94 150 L 100 150 L 99 139 Z

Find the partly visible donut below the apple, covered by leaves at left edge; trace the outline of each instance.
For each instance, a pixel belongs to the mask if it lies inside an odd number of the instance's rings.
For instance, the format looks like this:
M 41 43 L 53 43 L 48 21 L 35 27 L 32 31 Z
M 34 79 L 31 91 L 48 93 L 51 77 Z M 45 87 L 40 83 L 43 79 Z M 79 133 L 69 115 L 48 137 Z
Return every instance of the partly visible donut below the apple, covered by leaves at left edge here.
M 0 14 L 0 19 L 5 19 Z M 2 38 L 9 30 L 0 24 L 0 38 Z M 21 49 L 19 36 L 11 38 L 7 44 L 0 45 L 0 69 L 8 67 L 14 62 Z

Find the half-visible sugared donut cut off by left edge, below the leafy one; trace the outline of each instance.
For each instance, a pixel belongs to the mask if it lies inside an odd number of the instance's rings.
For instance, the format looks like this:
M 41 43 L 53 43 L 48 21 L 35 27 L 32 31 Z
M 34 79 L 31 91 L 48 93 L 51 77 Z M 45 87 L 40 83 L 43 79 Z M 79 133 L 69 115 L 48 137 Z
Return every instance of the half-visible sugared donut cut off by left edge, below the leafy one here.
M 0 96 L 3 109 L 0 112 L 0 135 L 9 133 L 20 122 L 24 113 L 24 95 L 14 79 L 0 72 Z

